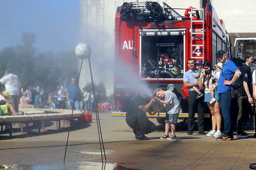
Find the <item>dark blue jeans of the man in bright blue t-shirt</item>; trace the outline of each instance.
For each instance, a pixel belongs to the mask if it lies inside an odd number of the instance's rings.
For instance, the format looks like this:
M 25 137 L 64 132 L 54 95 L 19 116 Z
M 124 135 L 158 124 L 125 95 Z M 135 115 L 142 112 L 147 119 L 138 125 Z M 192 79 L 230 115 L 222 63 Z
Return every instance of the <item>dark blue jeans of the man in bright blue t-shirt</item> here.
M 224 120 L 224 134 L 233 136 L 232 132 L 232 115 L 231 115 L 231 96 L 230 90 L 219 94 L 221 105 L 221 115 Z

